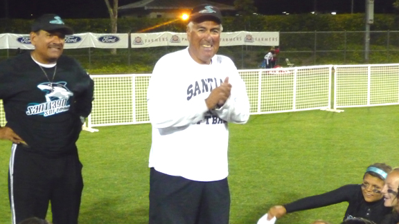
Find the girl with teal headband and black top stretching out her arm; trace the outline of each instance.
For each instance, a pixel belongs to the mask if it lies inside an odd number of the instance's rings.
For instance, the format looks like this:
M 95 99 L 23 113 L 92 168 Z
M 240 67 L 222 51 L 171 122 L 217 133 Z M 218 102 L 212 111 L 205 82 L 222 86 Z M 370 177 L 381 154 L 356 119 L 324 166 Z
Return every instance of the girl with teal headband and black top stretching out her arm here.
M 367 167 L 362 184 L 344 185 L 331 192 L 302 198 L 286 205 L 275 205 L 267 212 L 267 219 L 270 220 L 274 216 L 281 218 L 287 213 L 335 205 L 346 201 L 349 205 L 346 209 L 344 221 L 347 218 L 357 217 L 381 224 L 391 214 L 391 209 L 384 207 L 384 198 L 381 193 L 385 178 L 390 171 L 389 165 L 375 163 Z

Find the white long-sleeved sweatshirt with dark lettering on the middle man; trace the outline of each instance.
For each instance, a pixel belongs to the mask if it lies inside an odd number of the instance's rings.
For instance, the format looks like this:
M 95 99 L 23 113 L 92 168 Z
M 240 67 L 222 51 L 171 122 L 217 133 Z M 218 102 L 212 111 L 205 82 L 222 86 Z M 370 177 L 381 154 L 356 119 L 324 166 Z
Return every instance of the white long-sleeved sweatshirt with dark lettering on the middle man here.
M 231 96 L 209 111 L 205 99 L 229 77 Z M 152 124 L 149 167 L 190 180 L 222 180 L 229 174 L 227 122 L 249 118 L 245 83 L 229 57 L 215 55 L 211 65 L 197 64 L 188 48 L 159 59 L 148 86 Z

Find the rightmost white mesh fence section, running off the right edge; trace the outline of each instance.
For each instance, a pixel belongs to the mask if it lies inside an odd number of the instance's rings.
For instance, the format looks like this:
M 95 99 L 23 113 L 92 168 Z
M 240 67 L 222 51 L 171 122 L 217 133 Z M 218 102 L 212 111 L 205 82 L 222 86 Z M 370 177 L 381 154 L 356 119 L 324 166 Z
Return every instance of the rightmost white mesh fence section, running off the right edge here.
M 335 66 L 334 109 L 399 104 L 399 64 Z

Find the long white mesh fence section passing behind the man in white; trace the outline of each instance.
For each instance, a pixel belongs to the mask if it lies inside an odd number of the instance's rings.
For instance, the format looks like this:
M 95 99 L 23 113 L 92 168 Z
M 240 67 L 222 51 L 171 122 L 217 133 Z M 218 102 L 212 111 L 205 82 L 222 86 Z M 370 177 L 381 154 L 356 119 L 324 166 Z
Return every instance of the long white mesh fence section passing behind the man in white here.
M 332 65 L 240 70 L 251 114 L 330 109 Z M 91 75 L 89 127 L 150 122 L 147 88 L 151 74 Z

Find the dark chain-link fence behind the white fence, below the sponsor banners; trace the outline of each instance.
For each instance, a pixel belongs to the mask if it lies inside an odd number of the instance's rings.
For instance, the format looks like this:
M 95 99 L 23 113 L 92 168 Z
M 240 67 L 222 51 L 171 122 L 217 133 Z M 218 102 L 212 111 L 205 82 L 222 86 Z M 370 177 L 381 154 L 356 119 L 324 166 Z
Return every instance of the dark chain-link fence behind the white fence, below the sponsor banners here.
M 388 64 L 399 62 L 399 31 L 370 31 L 370 50 L 366 52 L 366 32 L 280 32 L 280 53 L 277 64 L 287 66 L 289 59 L 295 66 L 321 64 Z M 109 49 L 81 48 L 64 50 L 64 54 L 78 61 L 92 74 L 148 73 L 157 60 L 166 53 L 182 47 L 118 49 L 113 55 Z M 258 68 L 270 47 L 224 46 L 218 54 L 233 59 L 240 69 Z M 0 50 L 0 61 L 17 55 L 15 49 Z M 365 54 L 369 55 L 367 62 Z M 98 72 L 96 72 L 98 71 Z

